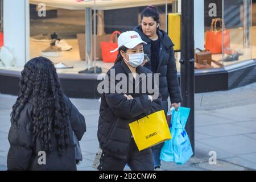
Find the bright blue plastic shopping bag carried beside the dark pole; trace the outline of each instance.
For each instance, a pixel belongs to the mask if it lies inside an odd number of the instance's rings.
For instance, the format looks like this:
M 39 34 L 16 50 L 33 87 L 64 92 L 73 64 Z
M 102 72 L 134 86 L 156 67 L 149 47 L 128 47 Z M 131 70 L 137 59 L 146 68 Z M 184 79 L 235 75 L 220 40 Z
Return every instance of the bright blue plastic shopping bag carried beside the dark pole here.
M 172 139 L 164 143 L 160 153 L 161 160 L 184 164 L 193 155 L 191 143 L 185 131 L 189 111 L 190 109 L 186 107 L 180 107 L 178 111 L 172 110 L 170 127 Z

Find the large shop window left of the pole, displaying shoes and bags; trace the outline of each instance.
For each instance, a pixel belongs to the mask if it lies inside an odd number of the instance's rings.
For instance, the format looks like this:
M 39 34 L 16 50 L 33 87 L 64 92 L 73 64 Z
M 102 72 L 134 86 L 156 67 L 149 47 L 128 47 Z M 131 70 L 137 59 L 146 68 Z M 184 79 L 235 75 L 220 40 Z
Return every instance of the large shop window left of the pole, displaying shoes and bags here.
M 147 5 L 158 8 L 160 28 L 167 31 L 166 15 L 172 8 L 171 1 L 165 0 L 89 1 L 76 2 L 81 5 L 79 7 L 71 7 L 71 4 L 60 8 L 60 3 L 55 7 L 46 4 L 46 16 L 38 16 L 43 6 L 36 5 L 37 1 L 30 2 L 30 57 L 49 57 L 56 63 L 59 73 L 78 73 L 90 67 L 100 67 L 105 73 L 114 64 L 105 49 L 109 45 L 116 46 L 119 32 L 138 26 L 141 12 Z M 112 36 L 113 32 L 117 34 Z M 114 44 L 108 44 L 111 38 Z

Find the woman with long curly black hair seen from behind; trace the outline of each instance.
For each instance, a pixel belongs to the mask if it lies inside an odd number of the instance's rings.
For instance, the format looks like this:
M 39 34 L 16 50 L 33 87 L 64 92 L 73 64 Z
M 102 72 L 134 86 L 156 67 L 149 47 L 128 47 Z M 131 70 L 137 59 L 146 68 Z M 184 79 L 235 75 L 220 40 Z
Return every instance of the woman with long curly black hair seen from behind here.
M 53 63 L 28 61 L 11 113 L 7 168 L 76 170 L 73 132 L 81 140 L 85 131 L 84 116 L 63 94 Z

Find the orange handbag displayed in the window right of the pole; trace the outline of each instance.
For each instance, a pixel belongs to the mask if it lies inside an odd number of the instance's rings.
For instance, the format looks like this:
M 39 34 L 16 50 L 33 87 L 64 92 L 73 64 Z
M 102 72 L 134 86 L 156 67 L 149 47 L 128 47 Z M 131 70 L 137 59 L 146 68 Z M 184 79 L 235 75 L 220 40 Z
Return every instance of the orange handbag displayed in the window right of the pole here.
M 220 30 L 217 31 L 216 24 L 220 22 Z M 214 25 L 214 27 L 213 27 Z M 216 18 L 212 20 L 210 31 L 207 31 L 205 39 L 205 49 L 210 53 L 222 53 L 222 35 L 224 35 L 224 48 L 230 47 L 230 32 L 229 30 L 222 31 L 222 19 Z

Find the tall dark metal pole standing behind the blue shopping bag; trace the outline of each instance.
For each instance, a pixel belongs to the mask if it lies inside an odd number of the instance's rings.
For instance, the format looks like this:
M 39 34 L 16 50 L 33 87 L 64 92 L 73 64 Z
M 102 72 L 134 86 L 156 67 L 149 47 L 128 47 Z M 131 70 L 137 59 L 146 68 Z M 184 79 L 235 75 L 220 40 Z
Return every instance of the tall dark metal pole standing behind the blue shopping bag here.
M 191 108 L 185 127 L 195 154 L 195 60 L 194 0 L 181 1 L 181 93 L 182 106 Z

